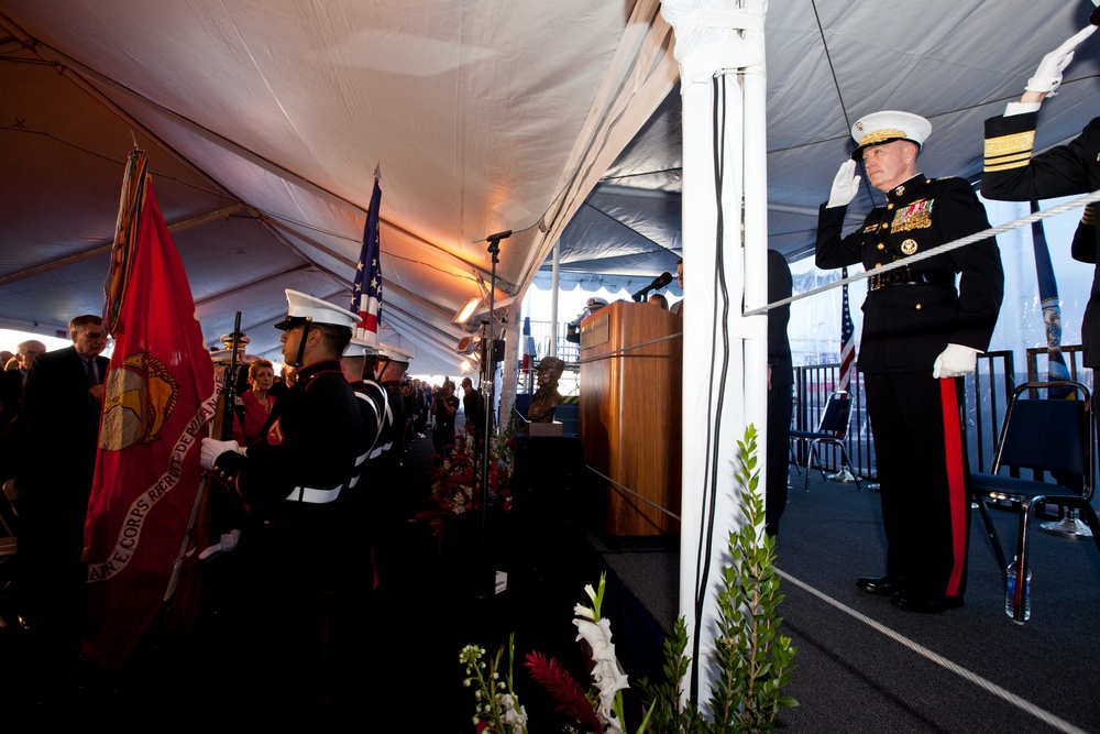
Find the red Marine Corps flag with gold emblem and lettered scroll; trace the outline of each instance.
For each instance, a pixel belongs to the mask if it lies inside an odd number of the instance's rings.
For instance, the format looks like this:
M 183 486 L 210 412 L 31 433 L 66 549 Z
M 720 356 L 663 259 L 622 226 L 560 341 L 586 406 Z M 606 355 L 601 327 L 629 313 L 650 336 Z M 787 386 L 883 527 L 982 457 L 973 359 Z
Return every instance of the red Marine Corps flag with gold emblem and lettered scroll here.
M 122 184 L 103 325 L 114 337 L 85 525 L 85 654 L 125 660 L 165 599 L 199 490 L 213 365 L 145 153 Z

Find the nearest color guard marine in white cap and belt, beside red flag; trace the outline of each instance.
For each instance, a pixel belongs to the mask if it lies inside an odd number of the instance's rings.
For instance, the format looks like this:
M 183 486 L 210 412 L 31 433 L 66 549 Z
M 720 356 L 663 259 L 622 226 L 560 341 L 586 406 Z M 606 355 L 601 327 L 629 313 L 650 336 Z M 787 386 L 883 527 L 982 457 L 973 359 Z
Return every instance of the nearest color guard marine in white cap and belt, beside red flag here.
M 250 559 L 256 593 L 308 599 L 344 582 L 340 558 L 354 536 L 342 507 L 361 453 L 359 401 L 340 357 L 359 317 L 287 291 L 283 357 L 296 382 L 272 409 L 264 439 L 202 439 L 202 465 L 251 505 L 239 551 Z

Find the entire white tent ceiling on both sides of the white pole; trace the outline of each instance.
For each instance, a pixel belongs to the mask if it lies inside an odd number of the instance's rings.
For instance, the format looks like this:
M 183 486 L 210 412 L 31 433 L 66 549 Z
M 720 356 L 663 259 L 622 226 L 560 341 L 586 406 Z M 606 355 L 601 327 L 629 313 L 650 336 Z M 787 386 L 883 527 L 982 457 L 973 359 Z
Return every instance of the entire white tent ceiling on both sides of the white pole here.
M 773 2 L 769 245 L 811 249 L 867 112 L 928 117 L 925 173 L 978 174 L 981 120 L 1091 9 Z M 1098 43 L 1044 106 L 1040 146 L 1094 114 Z M 671 45 L 652 0 L 0 0 L 0 325 L 52 332 L 101 310 L 136 144 L 208 343 L 240 309 L 250 351 L 277 355 L 284 288 L 350 302 L 381 166 L 387 333 L 415 348 L 416 371 L 453 373 L 451 317 L 484 294 L 487 234 L 516 230 L 497 300 L 522 295 L 559 235 L 568 277 L 640 286 L 672 270 Z M 853 211 L 869 206 L 865 191 Z

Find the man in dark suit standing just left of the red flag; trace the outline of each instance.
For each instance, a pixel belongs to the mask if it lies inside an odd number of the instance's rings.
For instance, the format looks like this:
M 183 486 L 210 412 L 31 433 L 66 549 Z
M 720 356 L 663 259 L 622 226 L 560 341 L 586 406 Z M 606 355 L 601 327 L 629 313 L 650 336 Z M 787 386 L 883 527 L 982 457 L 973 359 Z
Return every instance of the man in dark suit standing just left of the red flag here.
M 102 319 L 69 321 L 73 346 L 38 354 L 23 385 L 15 485 L 26 618 L 46 657 L 79 650 L 84 521 L 96 469 L 108 360 Z

